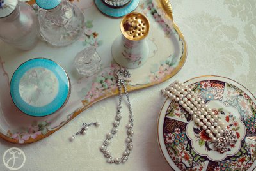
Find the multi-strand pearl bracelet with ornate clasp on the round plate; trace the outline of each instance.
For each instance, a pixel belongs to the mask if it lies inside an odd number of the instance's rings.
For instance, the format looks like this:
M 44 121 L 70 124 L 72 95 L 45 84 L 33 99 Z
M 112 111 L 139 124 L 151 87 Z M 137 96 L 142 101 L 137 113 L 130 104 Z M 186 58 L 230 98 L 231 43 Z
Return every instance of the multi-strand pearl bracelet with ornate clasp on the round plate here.
M 215 115 L 212 109 L 205 105 L 204 100 L 198 98 L 188 86 L 176 81 L 163 89 L 162 94 L 179 102 L 192 116 L 193 121 L 205 130 L 212 142 L 215 142 L 217 151 L 227 152 L 228 146 L 236 144 L 236 132 L 228 130 L 218 115 Z

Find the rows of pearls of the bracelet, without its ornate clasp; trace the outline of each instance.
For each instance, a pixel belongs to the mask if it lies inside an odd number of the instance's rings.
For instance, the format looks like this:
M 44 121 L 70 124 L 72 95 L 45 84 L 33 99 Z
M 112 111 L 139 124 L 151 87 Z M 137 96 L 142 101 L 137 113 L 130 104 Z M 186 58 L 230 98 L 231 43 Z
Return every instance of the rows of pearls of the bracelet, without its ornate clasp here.
M 176 81 L 163 89 L 162 93 L 179 102 L 179 105 L 191 115 L 193 121 L 205 130 L 212 142 L 216 142 L 223 135 L 225 124 L 188 86 Z

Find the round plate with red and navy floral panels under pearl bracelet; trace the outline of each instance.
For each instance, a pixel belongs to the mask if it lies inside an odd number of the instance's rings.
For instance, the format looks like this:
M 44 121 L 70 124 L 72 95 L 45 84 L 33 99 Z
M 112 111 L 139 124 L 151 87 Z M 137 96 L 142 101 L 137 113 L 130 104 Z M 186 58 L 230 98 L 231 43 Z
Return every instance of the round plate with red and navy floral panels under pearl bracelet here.
M 174 170 L 253 170 L 256 167 L 256 99 L 243 85 L 218 76 L 185 83 L 205 100 L 238 141 L 227 152 L 214 150 L 179 103 L 167 99 L 159 115 L 157 137 L 164 158 Z

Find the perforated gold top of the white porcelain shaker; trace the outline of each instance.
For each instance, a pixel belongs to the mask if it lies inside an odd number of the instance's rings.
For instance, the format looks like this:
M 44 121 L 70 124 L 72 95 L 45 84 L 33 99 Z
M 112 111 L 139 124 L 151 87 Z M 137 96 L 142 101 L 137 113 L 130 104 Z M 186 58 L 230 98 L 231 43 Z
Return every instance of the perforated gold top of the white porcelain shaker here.
M 120 27 L 125 38 L 138 41 L 147 37 L 150 24 L 145 15 L 132 12 L 124 16 Z

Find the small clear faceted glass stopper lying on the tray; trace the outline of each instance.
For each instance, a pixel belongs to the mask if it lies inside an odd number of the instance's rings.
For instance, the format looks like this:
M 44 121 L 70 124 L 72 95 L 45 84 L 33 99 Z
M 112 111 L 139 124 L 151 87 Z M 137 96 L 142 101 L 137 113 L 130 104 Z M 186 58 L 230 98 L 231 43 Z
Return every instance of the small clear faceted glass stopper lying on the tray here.
M 96 48 L 91 46 L 79 52 L 74 61 L 76 70 L 81 75 L 92 76 L 100 70 L 102 61 Z

